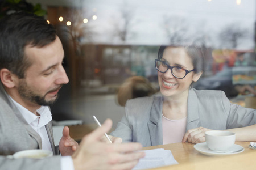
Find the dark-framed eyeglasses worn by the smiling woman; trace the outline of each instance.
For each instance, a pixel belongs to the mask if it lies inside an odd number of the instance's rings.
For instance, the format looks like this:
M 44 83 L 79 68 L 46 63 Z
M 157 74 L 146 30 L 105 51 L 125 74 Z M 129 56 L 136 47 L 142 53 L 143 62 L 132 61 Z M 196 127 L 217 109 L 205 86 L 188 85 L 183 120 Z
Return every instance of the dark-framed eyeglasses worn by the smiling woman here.
M 155 68 L 161 73 L 166 73 L 168 69 L 171 69 L 172 75 L 178 79 L 183 79 L 188 73 L 196 70 L 196 69 L 193 69 L 189 71 L 179 66 L 171 67 L 170 65 L 168 65 L 167 62 L 162 61 L 160 59 L 155 59 Z

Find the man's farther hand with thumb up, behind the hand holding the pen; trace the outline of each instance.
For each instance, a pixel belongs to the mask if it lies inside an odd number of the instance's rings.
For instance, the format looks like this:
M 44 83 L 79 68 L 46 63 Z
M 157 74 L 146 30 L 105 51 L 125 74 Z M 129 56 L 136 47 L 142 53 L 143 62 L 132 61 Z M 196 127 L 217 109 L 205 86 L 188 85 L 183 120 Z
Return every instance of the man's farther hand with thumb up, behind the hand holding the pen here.
M 69 128 L 65 126 L 62 131 L 62 138 L 59 143 L 59 150 L 62 156 L 72 155 L 78 147 L 78 143 L 69 136 Z

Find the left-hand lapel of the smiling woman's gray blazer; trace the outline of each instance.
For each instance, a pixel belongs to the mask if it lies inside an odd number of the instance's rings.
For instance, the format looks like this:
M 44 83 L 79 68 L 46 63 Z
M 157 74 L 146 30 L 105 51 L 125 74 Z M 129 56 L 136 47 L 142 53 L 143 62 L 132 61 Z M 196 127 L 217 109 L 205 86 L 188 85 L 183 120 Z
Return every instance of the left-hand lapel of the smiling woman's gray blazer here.
M 162 106 L 162 97 L 155 96 L 150 113 L 150 122 L 147 123 L 152 146 L 163 144 Z

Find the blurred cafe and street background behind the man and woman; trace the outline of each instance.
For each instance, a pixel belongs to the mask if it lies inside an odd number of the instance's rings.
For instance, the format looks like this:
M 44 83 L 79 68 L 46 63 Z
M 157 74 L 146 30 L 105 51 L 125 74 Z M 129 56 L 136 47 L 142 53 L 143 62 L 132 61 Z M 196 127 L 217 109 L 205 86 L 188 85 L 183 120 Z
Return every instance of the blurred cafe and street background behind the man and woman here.
M 203 42 L 211 54 L 207 71 L 193 87 L 223 90 L 233 103 L 255 107 L 254 0 L 6 0 L 1 16 L 30 11 L 57 28 L 70 82 L 51 107 L 56 121 L 94 124 L 121 120 L 117 92 L 142 76 L 158 90 L 154 59 L 160 45 Z

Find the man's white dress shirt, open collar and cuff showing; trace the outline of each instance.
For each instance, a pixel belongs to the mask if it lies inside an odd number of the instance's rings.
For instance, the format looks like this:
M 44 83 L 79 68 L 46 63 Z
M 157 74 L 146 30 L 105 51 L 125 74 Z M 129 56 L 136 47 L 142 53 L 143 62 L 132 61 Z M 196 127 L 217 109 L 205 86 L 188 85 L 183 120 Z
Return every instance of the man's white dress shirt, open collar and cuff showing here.
M 13 98 L 10 99 L 13 101 L 15 106 L 19 109 L 22 116 L 25 118 L 27 123 L 40 135 L 42 139 L 42 149 L 52 151 L 51 143 L 46 131 L 46 125 L 52 120 L 52 114 L 48 107 L 41 106 L 36 112 L 40 116 L 36 116 L 34 113 L 28 111 L 22 105 L 17 103 Z M 61 170 L 73 170 L 73 160 L 71 156 L 61 156 L 60 159 Z

